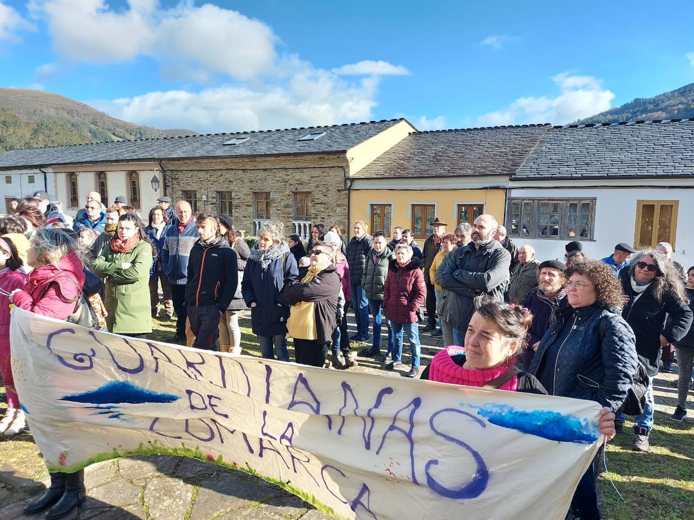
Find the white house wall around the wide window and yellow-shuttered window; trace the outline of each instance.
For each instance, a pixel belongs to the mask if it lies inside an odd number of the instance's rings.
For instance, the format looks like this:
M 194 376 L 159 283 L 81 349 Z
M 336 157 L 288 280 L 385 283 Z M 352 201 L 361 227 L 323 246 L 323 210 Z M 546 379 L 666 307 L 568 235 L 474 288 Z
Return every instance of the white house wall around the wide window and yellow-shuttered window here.
M 684 183 L 683 183 L 684 184 Z M 607 257 L 620 242 L 634 245 L 637 200 L 679 200 L 674 258 L 684 268 L 694 266 L 694 189 L 682 188 L 586 188 L 586 189 L 521 189 L 509 190 L 509 198 L 595 198 L 595 231 L 593 241 L 581 241 L 587 257 Z M 570 239 L 525 239 L 513 237 L 520 247 L 530 244 L 540 261 L 564 259 L 564 245 Z

